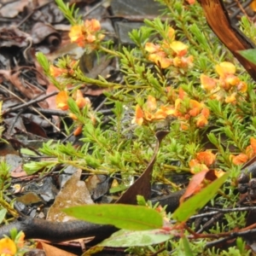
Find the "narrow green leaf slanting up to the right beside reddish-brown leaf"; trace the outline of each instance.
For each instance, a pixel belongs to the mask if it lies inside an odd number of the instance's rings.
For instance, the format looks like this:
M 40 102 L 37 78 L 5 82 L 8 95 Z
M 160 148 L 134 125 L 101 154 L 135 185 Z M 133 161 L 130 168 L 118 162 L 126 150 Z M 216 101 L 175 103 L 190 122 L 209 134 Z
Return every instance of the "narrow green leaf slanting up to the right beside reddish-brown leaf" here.
M 212 199 L 227 177 L 229 177 L 229 173 L 225 173 L 224 176 L 216 179 L 208 185 L 207 188 L 201 189 L 198 194 L 184 201 L 177 210 L 173 212 L 172 218 L 176 219 L 178 222 L 185 222 L 190 216 L 195 214 L 195 212 L 204 207 L 207 201 Z

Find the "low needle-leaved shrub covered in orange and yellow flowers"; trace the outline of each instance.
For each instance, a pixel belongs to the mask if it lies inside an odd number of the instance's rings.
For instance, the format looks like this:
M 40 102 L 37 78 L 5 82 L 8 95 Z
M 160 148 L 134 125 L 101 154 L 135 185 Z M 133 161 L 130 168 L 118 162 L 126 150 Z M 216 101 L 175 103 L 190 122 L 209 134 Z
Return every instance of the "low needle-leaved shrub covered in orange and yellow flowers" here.
M 70 57 L 52 66 L 44 55 L 38 55 L 45 73 L 60 90 L 56 105 L 67 110 L 78 127 L 73 131 L 72 125 L 68 132 L 83 133 L 83 146 L 79 149 L 70 143 L 45 143 L 41 152 L 55 157 L 62 165 L 73 165 L 86 172 L 119 172 L 126 185 L 130 177 L 141 175 L 147 168 L 155 132 L 169 130 L 154 165 L 153 182 L 179 189 L 180 184 L 169 177 L 189 173 L 189 185 L 194 189 L 187 195 L 191 196 L 229 172 L 229 185 L 219 190 L 218 200 L 222 207 L 233 206 L 234 184 L 241 165 L 256 155 L 255 84 L 232 56 L 220 54 L 219 41 L 207 27 L 198 4 L 159 2 L 165 5 L 169 20 L 145 20 L 145 26 L 130 33 L 132 48 L 123 46 L 116 50 L 113 42 L 105 41 L 97 20 L 75 22 L 69 17 L 73 21 L 71 41 L 86 51 L 117 57 L 124 84 L 102 77 L 91 79 L 81 73 L 79 61 Z M 108 89 L 104 95 L 106 106 L 112 106 L 112 116 L 106 118 L 90 107 L 90 101 L 79 90 L 88 85 Z M 71 86 L 78 88 L 69 92 Z M 56 160 L 31 162 L 25 168 L 32 173 L 42 168 L 47 171 L 56 164 Z M 207 174 L 213 178 L 207 178 Z M 226 190 L 228 195 L 222 196 Z M 234 230 L 240 224 L 244 224 L 244 219 L 235 223 L 233 218 L 227 218 L 223 225 L 219 224 L 219 230 Z M 170 243 L 179 248 L 175 239 Z M 189 246 L 197 247 L 202 255 L 205 243 L 191 241 Z

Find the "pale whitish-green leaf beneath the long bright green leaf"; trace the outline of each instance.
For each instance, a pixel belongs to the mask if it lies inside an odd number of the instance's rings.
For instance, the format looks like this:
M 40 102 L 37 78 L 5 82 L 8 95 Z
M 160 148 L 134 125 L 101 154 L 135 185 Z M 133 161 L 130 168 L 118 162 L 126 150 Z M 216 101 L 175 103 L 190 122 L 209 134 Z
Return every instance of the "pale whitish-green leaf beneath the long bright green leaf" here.
M 129 231 L 119 230 L 97 246 L 102 247 L 145 247 L 170 239 L 163 230 Z

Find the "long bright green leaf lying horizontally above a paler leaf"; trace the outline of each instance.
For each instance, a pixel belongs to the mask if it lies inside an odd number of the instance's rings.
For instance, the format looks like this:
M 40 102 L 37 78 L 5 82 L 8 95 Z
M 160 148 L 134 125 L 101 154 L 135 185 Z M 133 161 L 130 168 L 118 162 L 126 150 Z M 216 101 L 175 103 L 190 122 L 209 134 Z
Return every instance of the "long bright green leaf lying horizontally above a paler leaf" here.
M 68 215 L 96 224 L 112 224 L 124 230 L 154 230 L 163 218 L 154 209 L 131 205 L 87 205 L 63 209 Z

